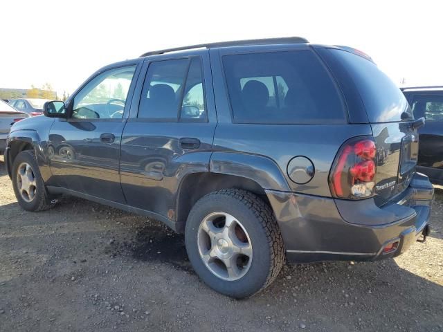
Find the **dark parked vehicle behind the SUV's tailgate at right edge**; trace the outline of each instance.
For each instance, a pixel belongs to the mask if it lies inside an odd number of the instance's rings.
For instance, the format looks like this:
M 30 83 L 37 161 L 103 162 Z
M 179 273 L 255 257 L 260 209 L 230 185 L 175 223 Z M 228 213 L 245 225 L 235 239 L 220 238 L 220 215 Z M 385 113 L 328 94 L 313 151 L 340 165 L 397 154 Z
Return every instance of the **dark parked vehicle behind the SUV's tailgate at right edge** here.
M 426 119 L 418 129 L 417 171 L 429 176 L 432 183 L 443 185 L 443 86 L 402 88 L 414 117 Z

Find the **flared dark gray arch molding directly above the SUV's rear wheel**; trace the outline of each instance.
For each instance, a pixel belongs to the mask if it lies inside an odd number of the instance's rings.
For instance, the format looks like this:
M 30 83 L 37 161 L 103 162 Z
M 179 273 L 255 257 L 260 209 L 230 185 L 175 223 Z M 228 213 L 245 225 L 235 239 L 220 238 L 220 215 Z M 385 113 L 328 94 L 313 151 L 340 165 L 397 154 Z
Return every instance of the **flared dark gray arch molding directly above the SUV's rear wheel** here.
M 209 168 L 213 173 L 249 178 L 264 190 L 291 191 L 280 167 L 273 160 L 263 156 L 214 152 Z

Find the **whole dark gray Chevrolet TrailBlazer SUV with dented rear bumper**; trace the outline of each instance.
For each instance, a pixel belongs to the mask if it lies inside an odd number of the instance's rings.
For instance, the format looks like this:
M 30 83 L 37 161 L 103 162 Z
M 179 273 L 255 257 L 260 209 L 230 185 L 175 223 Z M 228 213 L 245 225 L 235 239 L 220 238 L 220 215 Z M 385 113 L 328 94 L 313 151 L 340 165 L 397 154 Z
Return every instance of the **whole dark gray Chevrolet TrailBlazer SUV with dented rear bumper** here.
M 428 234 L 417 128 L 364 53 L 293 37 L 145 53 L 14 124 L 6 165 L 29 211 L 71 194 L 183 232 L 210 287 L 247 297 L 285 258 L 395 257 Z

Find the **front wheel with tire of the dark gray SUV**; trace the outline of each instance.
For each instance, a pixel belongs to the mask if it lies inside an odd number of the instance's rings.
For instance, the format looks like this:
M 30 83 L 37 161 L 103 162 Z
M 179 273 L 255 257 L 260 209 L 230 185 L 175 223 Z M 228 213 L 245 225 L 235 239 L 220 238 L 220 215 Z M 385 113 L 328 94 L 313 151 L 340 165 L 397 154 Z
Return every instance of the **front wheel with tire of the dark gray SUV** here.
M 42 211 L 51 207 L 46 187 L 32 150 L 21 151 L 12 163 L 12 187 L 21 208 Z

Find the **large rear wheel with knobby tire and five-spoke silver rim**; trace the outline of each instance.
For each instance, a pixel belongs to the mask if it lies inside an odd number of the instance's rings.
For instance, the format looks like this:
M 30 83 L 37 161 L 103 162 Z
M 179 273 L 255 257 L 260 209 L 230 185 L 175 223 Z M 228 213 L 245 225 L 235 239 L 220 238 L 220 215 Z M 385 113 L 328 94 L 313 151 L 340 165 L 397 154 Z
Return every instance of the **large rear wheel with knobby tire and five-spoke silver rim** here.
M 244 190 L 219 190 L 200 199 L 188 216 L 185 241 L 197 275 L 230 297 L 262 291 L 284 263 L 271 208 Z

